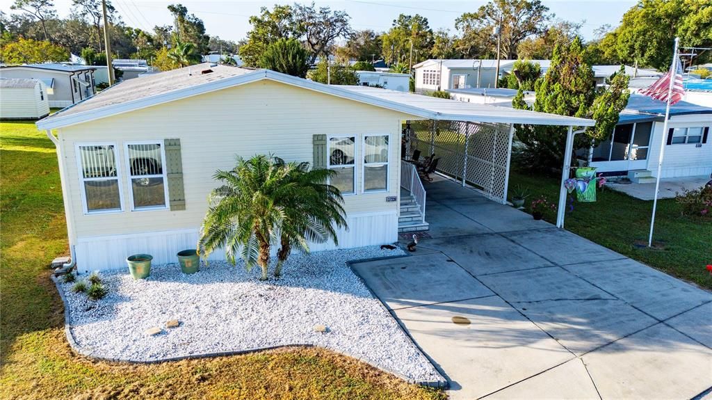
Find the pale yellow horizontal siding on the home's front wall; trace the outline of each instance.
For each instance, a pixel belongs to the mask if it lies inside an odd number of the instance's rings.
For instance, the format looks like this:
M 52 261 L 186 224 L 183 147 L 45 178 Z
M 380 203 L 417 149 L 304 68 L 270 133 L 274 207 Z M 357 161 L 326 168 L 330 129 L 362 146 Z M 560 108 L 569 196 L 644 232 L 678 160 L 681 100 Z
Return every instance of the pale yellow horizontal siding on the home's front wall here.
M 147 107 L 134 112 L 63 127 L 57 131 L 63 159 L 75 159 L 75 143 L 91 140 L 117 142 L 117 159 L 124 160 L 125 144 L 147 138 L 174 137 L 181 140 L 186 209 L 84 216 L 73 207 L 76 238 L 133 234 L 176 229 L 197 229 L 205 216 L 207 196 L 217 183 L 216 169 L 231 169 L 236 155 L 274 154 L 286 161 L 313 162 L 313 135 L 355 137 L 357 147 L 364 135 L 389 134 L 399 137 L 401 121 L 419 119 L 352 100 L 260 81 L 204 95 Z M 335 133 L 338 132 L 338 133 Z M 358 149 L 358 151 L 361 151 Z M 389 160 L 399 159 L 399 146 L 389 147 Z M 65 162 L 66 201 L 81 204 L 78 167 Z M 363 157 L 355 157 L 360 174 Z M 390 162 L 388 191 L 345 196 L 347 214 L 398 211 L 399 163 Z M 120 174 L 128 176 L 120 163 Z M 360 185 L 356 185 L 359 188 Z M 125 201 L 130 201 L 127 179 L 122 181 Z M 397 226 L 393 226 L 393 234 Z M 70 238 L 71 239 L 71 238 Z M 341 243 L 341 241 L 340 241 Z

